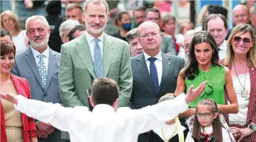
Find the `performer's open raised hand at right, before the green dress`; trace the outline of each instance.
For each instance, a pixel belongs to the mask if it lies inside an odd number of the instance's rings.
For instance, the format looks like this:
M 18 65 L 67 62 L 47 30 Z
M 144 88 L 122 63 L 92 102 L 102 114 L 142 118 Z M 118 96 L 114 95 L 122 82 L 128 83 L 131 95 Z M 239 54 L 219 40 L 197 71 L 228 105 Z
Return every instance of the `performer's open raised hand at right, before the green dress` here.
M 202 82 L 196 89 L 193 89 L 194 88 L 193 85 L 190 86 L 188 93 L 185 97 L 185 101 L 187 102 L 187 104 L 195 100 L 202 94 L 202 92 L 206 88 L 206 83 L 207 81 Z

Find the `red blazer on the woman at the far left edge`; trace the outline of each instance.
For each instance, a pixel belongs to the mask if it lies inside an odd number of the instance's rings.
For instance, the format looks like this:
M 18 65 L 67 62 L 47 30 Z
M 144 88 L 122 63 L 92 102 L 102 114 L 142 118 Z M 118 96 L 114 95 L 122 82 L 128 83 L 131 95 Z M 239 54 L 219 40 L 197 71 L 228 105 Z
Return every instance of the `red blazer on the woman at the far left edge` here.
M 27 79 L 21 78 L 12 74 L 11 74 L 11 78 L 13 80 L 13 84 L 17 90 L 17 93 L 30 99 L 31 98 L 30 88 L 29 88 Z M 1 104 L 1 113 L 0 113 L 1 114 L 1 142 L 7 142 L 6 129 L 5 129 L 6 127 L 5 115 L 4 115 L 2 102 L 0 102 L 0 104 Z M 23 123 L 24 142 L 30 142 L 30 137 L 37 137 L 34 119 L 31 117 L 28 117 L 24 113 L 21 113 L 21 117 L 22 117 L 22 123 Z

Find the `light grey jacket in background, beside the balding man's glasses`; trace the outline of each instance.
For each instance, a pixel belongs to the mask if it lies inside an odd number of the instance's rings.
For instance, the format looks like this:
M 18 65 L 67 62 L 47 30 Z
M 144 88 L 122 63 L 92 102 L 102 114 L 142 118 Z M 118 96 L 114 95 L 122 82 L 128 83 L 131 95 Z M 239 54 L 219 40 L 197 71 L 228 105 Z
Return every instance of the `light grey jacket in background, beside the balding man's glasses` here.
M 161 51 L 165 54 L 170 52 L 171 55 L 177 55 L 173 37 L 170 35 L 166 35 L 164 32 L 161 32 L 161 33 L 163 35 L 161 46 L 160 46 Z

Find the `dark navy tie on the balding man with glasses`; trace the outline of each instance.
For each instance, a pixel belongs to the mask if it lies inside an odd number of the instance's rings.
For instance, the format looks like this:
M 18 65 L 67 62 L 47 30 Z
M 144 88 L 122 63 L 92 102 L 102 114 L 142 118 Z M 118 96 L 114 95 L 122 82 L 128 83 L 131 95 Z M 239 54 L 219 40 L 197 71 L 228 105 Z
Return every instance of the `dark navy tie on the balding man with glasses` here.
M 151 77 L 152 83 L 155 87 L 155 91 L 158 94 L 158 90 L 159 90 L 158 71 L 157 71 L 157 67 L 154 63 L 157 60 L 157 58 L 151 57 L 151 58 L 148 58 L 147 60 L 150 62 L 150 64 L 149 64 L 150 77 Z

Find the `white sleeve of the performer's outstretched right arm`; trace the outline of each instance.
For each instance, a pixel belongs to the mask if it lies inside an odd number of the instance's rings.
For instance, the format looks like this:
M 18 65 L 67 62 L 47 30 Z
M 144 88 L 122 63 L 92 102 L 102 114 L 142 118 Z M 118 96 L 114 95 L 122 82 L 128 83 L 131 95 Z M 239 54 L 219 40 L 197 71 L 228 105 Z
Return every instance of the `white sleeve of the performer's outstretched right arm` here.
M 187 109 L 188 105 L 184 93 L 172 100 L 166 100 L 141 109 L 133 109 L 130 114 L 133 120 L 133 130 L 136 133 L 143 133 L 161 127 L 165 122 L 174 119 Z

